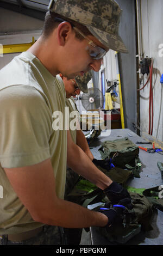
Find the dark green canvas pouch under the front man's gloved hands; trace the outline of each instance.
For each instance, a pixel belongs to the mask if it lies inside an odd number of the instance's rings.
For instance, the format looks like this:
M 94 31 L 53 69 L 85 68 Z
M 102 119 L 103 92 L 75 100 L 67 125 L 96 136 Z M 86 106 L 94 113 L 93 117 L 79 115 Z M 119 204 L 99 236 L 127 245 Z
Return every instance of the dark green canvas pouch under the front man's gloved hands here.
M 153 214 L 153 204 L 142 194 L 129 193 L 133 209 L 126 208 L 121 217 L 117 217 L 116 222 L 111 227 L 97 228 L 110 242 L 126 243 L 134 235 L 139 234 L 141 230 L 148 231 L 152 229 L 150 221 Z M 108 200 L 106 206 L 108 208 L 111 206 Z M 97 211 L 100 207 L 97 206 L 93 210 Z

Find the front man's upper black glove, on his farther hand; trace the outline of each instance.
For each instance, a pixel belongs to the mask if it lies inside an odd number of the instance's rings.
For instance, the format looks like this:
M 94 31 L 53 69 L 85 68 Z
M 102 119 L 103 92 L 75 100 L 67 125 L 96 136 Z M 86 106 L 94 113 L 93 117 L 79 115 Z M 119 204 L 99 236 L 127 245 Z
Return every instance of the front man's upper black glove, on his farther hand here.
M 126 188 L 123 188 L 120 184 L 113 181 L 111 185 L 107 188 L 105 188 L 104 193 L 108 197 L 108 199 L 111 201 L 112 204 L 117 204 L 120 202 L 123 198 L 129 198 L 130 203 L 128 202 L 127 208 L 130 209 L 131 207 L 131 197 Z M 131 208 L 132 209 L 132 208 Z

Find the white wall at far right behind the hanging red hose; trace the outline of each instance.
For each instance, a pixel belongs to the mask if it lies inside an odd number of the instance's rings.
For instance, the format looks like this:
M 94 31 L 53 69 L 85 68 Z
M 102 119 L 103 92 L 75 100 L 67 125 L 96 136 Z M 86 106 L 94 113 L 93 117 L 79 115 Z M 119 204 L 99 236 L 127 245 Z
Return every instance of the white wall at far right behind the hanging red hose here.
M 142 52 L 144 56 L 154 59 L 153 70 L 153 109 L 154 126 L 153 136 L 163 141 L 163 89 L 160 76 L 163 73 L 163 1 L 141 0 L 140 16 L 142 31 Z M 162 44 L 162 45 L 161 45 Z M 144 84 L 147 76 L 144 75 Z M 140 88 L 143 83 L 140 84 Z M 149 83 L 140 91 L 140 129 L 148 132 L 149 124 Z

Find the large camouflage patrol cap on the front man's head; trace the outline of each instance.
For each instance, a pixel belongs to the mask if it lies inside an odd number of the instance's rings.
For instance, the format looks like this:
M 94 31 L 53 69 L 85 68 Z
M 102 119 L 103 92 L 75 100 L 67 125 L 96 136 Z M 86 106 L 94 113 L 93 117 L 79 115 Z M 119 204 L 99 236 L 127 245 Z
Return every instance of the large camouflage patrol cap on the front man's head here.
M 48 8 L 86 26 L 106 47 L 128 52 L 118 35 L 122 10 L 114 0 L 51 0 Z

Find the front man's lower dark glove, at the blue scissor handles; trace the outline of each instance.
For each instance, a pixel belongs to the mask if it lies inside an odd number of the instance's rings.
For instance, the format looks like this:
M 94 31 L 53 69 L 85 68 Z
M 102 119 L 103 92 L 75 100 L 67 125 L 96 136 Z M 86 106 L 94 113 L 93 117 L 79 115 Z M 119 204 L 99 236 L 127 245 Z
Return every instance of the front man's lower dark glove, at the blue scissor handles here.
M 100 208 L 98 211 L 102 214 L 106 215 L 108 217 L 108 223 L 105 227 L 108 225 L 114 224 L 114 222 L 117 220 L 118 217 L 121 217 L 123 211 L 128 207 L 130 204 L 129 198 L 123 198 L 118 202 L 117 205 L 113 205 L 110 209 L 105 208 L 107 204 L 104 205 L 104 208 Z M 107 209 L 107 210 L 104 210 Z

